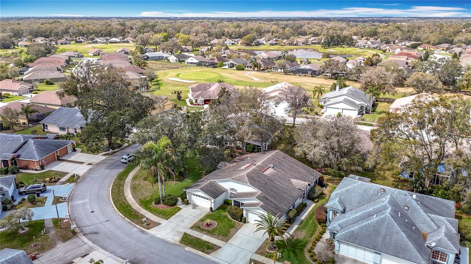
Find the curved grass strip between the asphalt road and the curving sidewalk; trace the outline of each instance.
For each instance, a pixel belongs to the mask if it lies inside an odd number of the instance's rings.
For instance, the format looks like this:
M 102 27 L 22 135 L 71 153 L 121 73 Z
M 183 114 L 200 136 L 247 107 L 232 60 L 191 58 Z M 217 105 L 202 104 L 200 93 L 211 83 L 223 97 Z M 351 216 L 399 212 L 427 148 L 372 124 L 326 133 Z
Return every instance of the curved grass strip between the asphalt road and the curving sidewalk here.
M 113 185 L 111 186 L 111 199 L 116 209 L 131 222 L 136 225 L 142 225 L 142 219 L 144 216 L 138 211 L 134 210 L 124 197 L 124 181 L 128 177 L 129 173 L 136 168 L 137 164 L 130 164 L 124 170 L 122 170 L 114 179 Z M 147 219 L 147 225 L 143 226 L 146 229 L 156 226 L 157 223 Z

